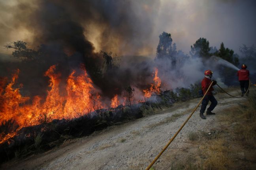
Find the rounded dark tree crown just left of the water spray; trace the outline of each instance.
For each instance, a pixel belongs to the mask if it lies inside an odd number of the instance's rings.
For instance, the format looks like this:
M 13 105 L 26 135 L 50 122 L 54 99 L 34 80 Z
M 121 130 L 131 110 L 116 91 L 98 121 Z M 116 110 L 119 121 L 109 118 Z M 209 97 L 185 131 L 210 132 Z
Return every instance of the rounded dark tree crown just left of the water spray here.
M 200 38 L 196 41 L 193 46 L 191 46 L 191 55 L 198 55 L 200 57 L 210 57 L 209 51 L 211 48 L 209 47 L 209 41 L 205 38 Z

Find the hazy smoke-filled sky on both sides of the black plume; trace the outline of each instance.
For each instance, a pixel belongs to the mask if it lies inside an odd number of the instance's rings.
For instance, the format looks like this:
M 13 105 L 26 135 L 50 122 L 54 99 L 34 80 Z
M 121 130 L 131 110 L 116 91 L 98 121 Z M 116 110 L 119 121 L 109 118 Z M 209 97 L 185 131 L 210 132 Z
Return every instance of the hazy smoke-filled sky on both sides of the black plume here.
M 163 31 L 171 33 L 177 49 L 187 54 L 200 37 L 217 48 L 224 42 L 238 54 L 242 44 L 256 45 L 254 0 L 96 0 L 84 10 L 82 5 L 77 9 L 79 1 L 63 6 L 53 1 L 81 24 L 95 52 L 154 56 Z M 113 4 L 115 9 L 109 9 Z M 0 53 L 10 54 L 4 45 L 13 41 L 25 41 L 31 47 L 45 43 L 38 39 L 38 32 L 43 32 L 47 20 L 35 17 L 41 6 L 36 0 L 0 0 Z

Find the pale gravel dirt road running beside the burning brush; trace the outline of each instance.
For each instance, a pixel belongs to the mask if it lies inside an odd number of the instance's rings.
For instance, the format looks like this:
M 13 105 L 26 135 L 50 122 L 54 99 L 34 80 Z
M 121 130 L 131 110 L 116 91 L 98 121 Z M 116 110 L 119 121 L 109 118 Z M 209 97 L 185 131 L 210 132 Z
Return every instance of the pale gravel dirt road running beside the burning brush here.
M 237 95 L 237 92 L 233 92 Z M 216 114 L 236 105 L 245 98 L 231 98 L 217 94 Z M 179 129 L 200 99 L 176 103 L 173 107 L 155 115 L 140 118 L 119 126 L 112 126 L 88 137 L 66 141 L 60 147 L 24 160 L 3 164 L 2 169 L 11 170 L 130 170 L 145 167 L 161 151 Z M 215 115 L 199 117 L 199 109 L 184 126 L 166 152 L 182 149 L 191 131 L 209 131 L 218 126 Z M 165 153 L 162 155 L 164 157 Z M 161 157 L 157 164 L 161 164 Z M 158 168 L 160 169 L 160 168 Z

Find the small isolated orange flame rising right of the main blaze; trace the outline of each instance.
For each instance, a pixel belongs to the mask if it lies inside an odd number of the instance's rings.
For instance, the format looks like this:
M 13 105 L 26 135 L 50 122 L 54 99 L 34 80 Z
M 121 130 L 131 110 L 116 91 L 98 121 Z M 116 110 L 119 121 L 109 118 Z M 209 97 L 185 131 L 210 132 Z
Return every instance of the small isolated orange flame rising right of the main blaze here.
M 150 98 L 152 94 L 160 94 L 161 93 L 161 79 L 158 77 L 158 69 L 155 68 L 154 72 L 154 84 L 151 84 L 151 87 L 149 89 L 143 90 L 145 92 L 144 96 L 146 98 Z

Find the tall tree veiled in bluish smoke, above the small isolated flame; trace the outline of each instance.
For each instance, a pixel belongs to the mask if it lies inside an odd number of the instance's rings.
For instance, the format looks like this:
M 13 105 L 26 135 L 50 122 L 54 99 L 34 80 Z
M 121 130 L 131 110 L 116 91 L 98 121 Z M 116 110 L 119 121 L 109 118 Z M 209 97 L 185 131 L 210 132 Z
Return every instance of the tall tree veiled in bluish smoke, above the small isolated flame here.
M 170 33 L 163 32 L 159 35 L 159 43 L 156 48 L 156 58 L 157 59 L 170 59 L 171 65 L 174 67 L 176 64 L 175 55 L 176 44 L 172 44 L 172 38 Z

